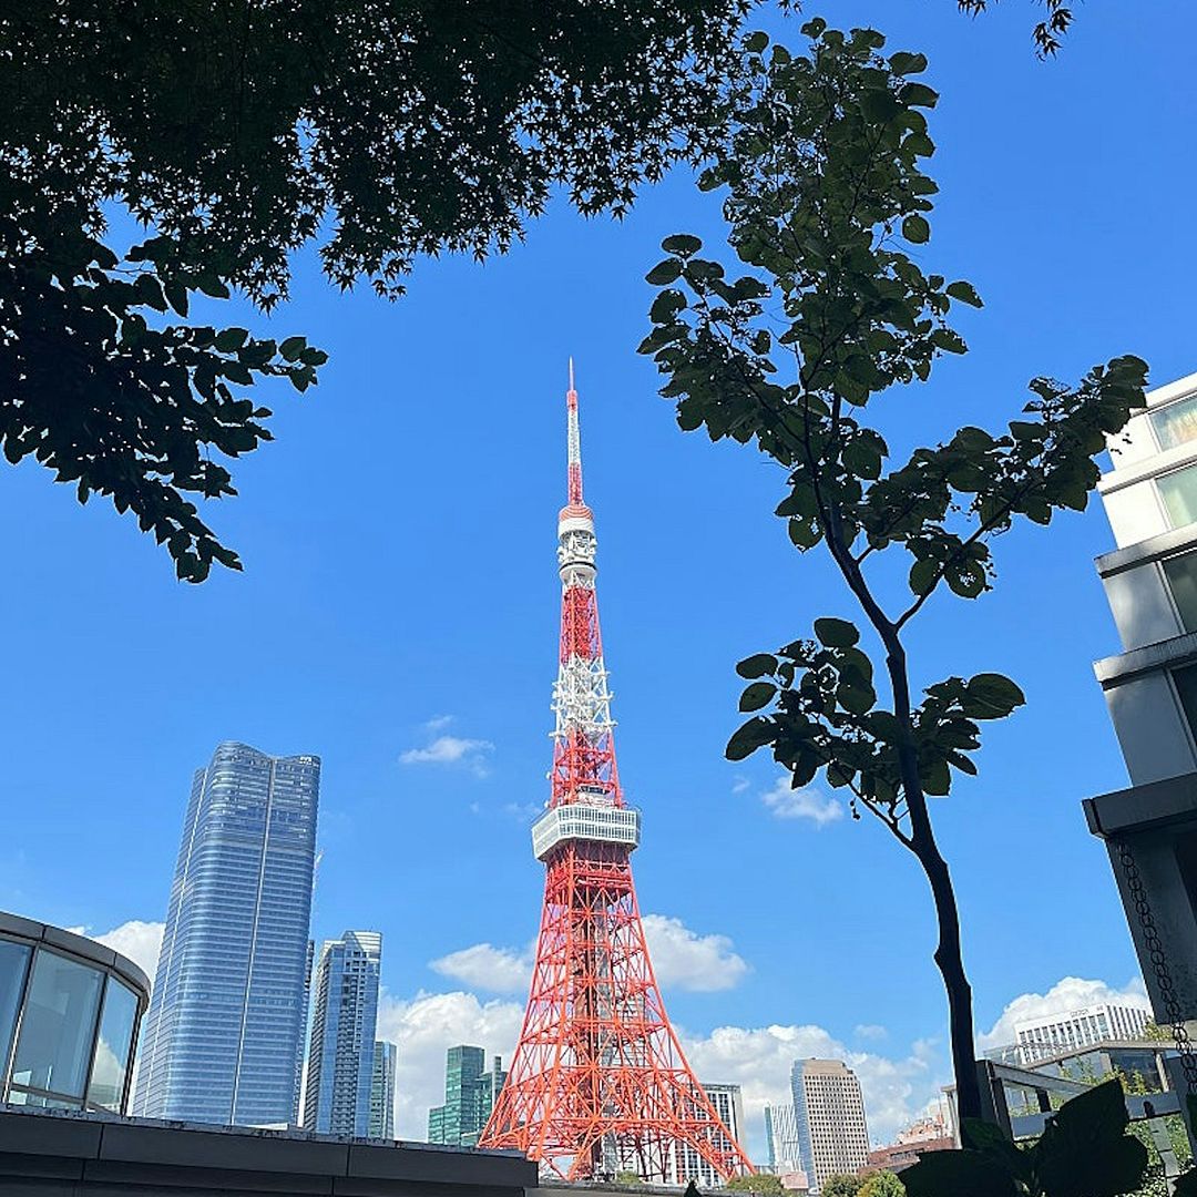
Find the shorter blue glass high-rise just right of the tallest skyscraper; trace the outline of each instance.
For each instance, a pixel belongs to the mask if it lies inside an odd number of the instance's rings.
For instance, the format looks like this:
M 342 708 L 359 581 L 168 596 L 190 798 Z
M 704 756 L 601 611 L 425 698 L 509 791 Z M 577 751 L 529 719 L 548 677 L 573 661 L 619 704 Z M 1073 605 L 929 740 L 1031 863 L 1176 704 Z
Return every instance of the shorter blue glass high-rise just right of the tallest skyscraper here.
M 305 1130 L 327 1135 L 370 1131 L 381 966 L 377 931 L 346 931 L 320 949 L 304 1087 Z

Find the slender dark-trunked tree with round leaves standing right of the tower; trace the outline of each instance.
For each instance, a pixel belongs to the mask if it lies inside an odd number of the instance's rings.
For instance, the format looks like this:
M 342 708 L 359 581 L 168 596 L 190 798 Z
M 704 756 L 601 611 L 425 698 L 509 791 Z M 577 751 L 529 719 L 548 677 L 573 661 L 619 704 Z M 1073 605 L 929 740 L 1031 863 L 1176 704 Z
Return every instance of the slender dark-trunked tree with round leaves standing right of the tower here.
M 917 858 L 938 924 L 960 1110 L 979 1117 L 960 918 L 928 798 L 948 794 L 954 772 L 977 772 L 980 722 L 1008 716 L 1023 695 L 982 673 L 919 697 L 905 638 L 942 590 L 977 598 L 990 589 L 994 537 L 1084 509 L 1106 436 L 1143 403 L 1147 366 L 1122 357 L 1076 385 L 1035 378 L 1005 432 L 964 427 L 891 466 L 870 403 L 886 391 L 900 399 L 941 354 L 964 353 L 948 315 L 980 299 L 920 265 L 937 190 L 923 170 L 935 148 L 925 110 L 937 98 L 917 80 L 925 57 L 883 56 L 874 30 L 845 35 L 812 20 L 803 32 L 810 45 L 798 56 L 779 45 L 766 55 L 765 35 L 749 38 L 734 133 L 700 180 L 725 192 L 730 244 L 748 273 L 728 279 L 697 237 L 667 238 L 669 256 L 648 275 L 662 290 L 640 352 L 666 376 L 661 394 L 676 401 L 683 430 L 753 443 L 782 467 L 776 514 L 790 540 L 826 549 L 871 628 L 874 656 L 855 622 L 822 618 L 813 634 L 741 661 L 740 709 L 752 718 L 728 757 L 768 748 L 795 788 L 821 773 L 849 791 L 855 815 L 863 807 Z M 892 558 L 905 559 L 900 570 Z M 894 585 L 903 575 L 905 587 Z

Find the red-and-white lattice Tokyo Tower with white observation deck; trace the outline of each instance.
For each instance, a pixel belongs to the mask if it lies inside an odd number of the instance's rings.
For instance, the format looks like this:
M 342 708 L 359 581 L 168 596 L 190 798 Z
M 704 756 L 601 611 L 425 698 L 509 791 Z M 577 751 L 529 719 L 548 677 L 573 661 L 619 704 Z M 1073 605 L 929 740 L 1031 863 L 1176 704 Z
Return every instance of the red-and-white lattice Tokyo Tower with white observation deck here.
M 700 1160 L 728 1178 L 752 1166 L 666 1016 L 632 883 L 640 813 L 625 804 L 615 770 L 572 361 L 566 409 L 552 789 L 531 828 L 545 909 L 519 1044 L 479 1146 L 515 1148 L 567 1180 L 630 1171 L 685 1184 Z

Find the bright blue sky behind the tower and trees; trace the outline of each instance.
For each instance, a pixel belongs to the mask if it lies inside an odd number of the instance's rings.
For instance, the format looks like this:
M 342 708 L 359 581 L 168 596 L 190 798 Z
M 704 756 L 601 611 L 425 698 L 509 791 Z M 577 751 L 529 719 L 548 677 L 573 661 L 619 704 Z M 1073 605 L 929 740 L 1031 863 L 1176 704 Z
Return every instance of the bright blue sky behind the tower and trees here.
M 1156 384 L 1197 367 L 1197 13 L 1081 6 L 1063 54 L 1041 63 L 1041 10 L 1021 0 L 976 20 L 949 0 L 816 11 L 929 55 L 942 194 L 922 260 L 986 302 L 960 320 L 967 357 L 885 401 L 895 449 L 1001 425 L 1037 373 L 1074 378 L 1125 351 Z M 760 23 L 800 41 L 796 22 Z M 505 259 L 421 263 L 397 304 L 340 296 L 303 257 L 269 320 L 212 305 L 208 318 L 304 333 L 332 354 L 303 397 L 260 388 L 277 442 L 237 463 L 239 498 L 207 511 L 243 575 L 176 583 L 102 502 L 80 509 L 32 464 L 0 470 L 0 907 L 97 934 L 160 920 L 190 774 L 214 745 L 315 752 L 314 934 L 384 932 L 388 1026 L 411 1037 L 401 1131 L 419 1131 L 452 1037 L 510 1050 L 522 996 L 480 988 L 476 953 L 431 962 L 491 944 L 504 953 L 491 964 L 510 966 L 492 980 L 518 979 L 536 929 L 527 812 L 549 761 L 572 354 L 620 770 L 645 815 L 640 903 L 675 953 L 666 996 L 695 1067 L 743 1075 L 754 1108 L 780 1095 L 780 1061 L 838 1045 L 870 1077 L 879 1138 L 932 1095 L 948 1076 L 943 998 L 913 859 L 868 821 L 777 818 L 764 801 L 777 770 L 722 755 L 735 661 L 851 608 L 770 515 L 776 472 L 679 432 L 636 356 L 660 239 L 718 229 L 712 198 L 679 174 L 621 224 L 555 202 Z M 1013 534 L 998 589 L 935 602 L 911 637 L 922 682 L 998 669 L 1028 695 L 986 728 L 980 777 L 935 804 L 982 1031 L 1062 978 L 1123 989 L 1136 973 L 1080 808 L 1126 780 L 1090 668 L 1118 649 L 1092 564 L 1111 545 L 1100 504 Z M 438 736 L 479 743 L 402 762 Z M 711 959 L 731 988 L 695 988 Z

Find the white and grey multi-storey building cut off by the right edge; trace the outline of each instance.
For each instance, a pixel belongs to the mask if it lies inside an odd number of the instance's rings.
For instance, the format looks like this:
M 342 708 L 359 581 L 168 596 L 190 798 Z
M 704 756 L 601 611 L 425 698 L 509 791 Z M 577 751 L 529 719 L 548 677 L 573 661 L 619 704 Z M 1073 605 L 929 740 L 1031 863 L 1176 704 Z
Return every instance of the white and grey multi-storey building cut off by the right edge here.
M 1110 456 L 1098 492 L 1117 548 L 1096 565 L 1123 651 L 1094 670 L 1131 785 L 1084 808 L 1169 1023 L 1197 1017 L 1197 375 L 1150 391 Z

